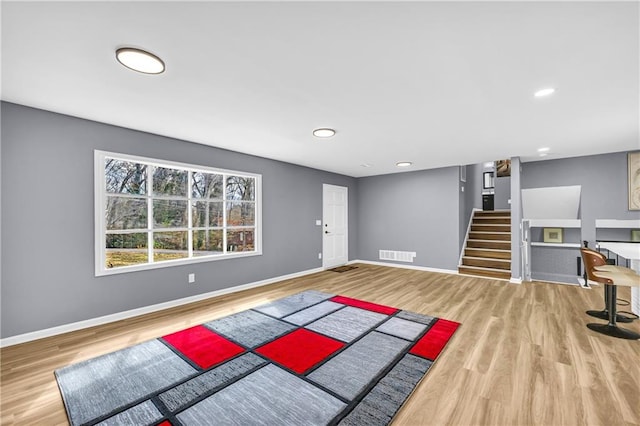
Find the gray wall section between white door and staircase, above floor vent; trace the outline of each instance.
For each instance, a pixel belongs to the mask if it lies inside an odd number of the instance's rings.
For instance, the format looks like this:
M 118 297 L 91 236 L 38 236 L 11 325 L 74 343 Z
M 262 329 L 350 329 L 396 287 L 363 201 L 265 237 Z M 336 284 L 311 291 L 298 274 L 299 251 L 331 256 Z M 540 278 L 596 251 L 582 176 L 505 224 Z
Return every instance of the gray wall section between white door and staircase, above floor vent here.
M 411 265 L 455 270 L 459 184 L 458 167 L 360 178 L 358 259 L 378 261 L 381 249 L 415 251 Z

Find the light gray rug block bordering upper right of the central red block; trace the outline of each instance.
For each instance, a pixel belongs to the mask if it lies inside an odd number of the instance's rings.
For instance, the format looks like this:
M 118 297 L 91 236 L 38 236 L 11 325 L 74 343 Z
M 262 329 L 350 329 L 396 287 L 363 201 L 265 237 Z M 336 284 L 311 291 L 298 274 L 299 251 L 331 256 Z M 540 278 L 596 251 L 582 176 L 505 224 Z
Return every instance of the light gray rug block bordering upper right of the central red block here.
M 343 342 L 351 342 L 371 330 L 385 318 L 387 315 L 347 306 L 312 322 L 305 328 Z

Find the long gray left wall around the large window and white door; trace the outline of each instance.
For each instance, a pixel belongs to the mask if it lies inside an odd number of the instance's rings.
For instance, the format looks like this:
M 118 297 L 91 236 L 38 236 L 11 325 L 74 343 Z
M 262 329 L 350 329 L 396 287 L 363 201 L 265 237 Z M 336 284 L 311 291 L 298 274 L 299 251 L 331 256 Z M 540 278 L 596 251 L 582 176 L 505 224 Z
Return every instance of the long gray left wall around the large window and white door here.
M 2 337 L 319 268 L 323 183 L 349 188 L 355 258 L 353 178 L 15 104 L 2 118 Z M 94 149 L 262 174 L 263 255 L 96 278 Z

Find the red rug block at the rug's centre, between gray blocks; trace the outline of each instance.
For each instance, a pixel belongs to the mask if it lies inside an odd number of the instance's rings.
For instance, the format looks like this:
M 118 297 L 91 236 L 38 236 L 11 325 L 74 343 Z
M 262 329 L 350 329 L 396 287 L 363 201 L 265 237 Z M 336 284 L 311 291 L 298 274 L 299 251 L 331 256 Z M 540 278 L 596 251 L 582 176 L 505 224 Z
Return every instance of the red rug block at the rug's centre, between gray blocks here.
M 345 344 L 305 328 L 299 328 L 255 350 L 267 358 L 302 374 Z

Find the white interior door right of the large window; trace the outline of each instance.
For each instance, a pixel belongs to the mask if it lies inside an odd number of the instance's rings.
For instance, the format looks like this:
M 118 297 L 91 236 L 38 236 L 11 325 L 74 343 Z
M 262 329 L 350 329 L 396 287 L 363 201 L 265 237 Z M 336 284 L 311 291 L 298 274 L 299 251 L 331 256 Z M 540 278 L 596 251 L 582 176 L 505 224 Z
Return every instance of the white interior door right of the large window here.
M 349 260 L 348 193 L 343 186 L 322 185 L 322 267 L 333 268 Z

